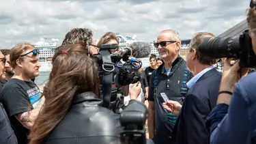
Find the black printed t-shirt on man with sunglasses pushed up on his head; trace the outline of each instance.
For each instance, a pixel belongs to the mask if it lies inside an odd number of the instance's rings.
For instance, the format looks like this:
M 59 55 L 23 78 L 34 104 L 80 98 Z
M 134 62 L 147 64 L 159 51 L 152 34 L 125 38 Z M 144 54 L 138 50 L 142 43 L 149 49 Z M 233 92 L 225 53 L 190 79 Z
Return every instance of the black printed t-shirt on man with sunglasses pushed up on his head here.
M 25 128 L 15 115 L 25 113 L 38 104 L 40 98 L 40 89 L 33 81 L 26 82 L 17 78 L 11 78 L 0 93 L 1 102 L 10 119 L 14 133 L 19 144 L 28 143 L 27 134 L 29 130 Z

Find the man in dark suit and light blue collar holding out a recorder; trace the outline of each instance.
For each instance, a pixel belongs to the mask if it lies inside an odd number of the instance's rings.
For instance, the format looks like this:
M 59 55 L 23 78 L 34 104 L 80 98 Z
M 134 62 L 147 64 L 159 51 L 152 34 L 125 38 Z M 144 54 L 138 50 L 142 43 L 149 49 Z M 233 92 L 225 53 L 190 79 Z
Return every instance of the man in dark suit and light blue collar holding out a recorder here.
M 214 68 L 216 60 L 203 59 L 198 47 L 203 38 L 213 36 L 212 33 L 199 32 L 190 41 L 186 61 L 194 77 L 186 83 L 189 90 L 184 104 L 181 106 L 171 100 L 163 104 L 167 111 L 178 114 L 172 144 L 208 144 L 210 134 L 205 128 L 205 119 L 216 106 L 221 72 Z

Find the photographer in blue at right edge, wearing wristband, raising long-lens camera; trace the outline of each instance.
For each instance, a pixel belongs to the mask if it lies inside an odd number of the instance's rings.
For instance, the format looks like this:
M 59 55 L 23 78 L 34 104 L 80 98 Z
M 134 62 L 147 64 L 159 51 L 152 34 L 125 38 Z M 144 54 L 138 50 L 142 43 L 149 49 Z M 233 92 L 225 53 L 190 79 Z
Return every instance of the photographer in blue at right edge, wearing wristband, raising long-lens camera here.
M 256 53 L 255 1 L 251 1 L 250 6 L 247 21 L 253 51 Z M 244 76 L 235 85 L 248 69 L 241 69 L 239 61 L 233 66 L 230 62 L 231 59 L 227 59 L 224 63 L 218 105 L 208 115 L 206 121 L 211 132 L 210 143 L 256 143 L 256 73 Z

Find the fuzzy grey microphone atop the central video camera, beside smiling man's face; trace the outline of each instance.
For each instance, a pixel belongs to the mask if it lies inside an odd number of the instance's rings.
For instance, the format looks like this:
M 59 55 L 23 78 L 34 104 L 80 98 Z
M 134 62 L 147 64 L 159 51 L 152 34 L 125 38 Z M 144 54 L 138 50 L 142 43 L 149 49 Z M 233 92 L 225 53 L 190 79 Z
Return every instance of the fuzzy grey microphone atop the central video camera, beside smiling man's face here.
M 124 55 L 130 56 L 132 53 L 132 57 L 135 58 L 148 57 L 151 53 L 151 48 L 151 44 L 148 42 L 133 42 L 129 48 L 124 48 L 124 50 L 120 51 L 119 55 L 124 57 Z

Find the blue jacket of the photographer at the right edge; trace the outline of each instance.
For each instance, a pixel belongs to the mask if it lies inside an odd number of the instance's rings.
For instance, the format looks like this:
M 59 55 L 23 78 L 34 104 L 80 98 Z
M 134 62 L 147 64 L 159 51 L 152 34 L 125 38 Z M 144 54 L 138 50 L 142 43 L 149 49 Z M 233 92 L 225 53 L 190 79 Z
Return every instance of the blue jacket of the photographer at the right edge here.
M 211 144 L 256 143 L 256 72 L 244 76 L 229 106 L 218 104 L 208 116 Z

